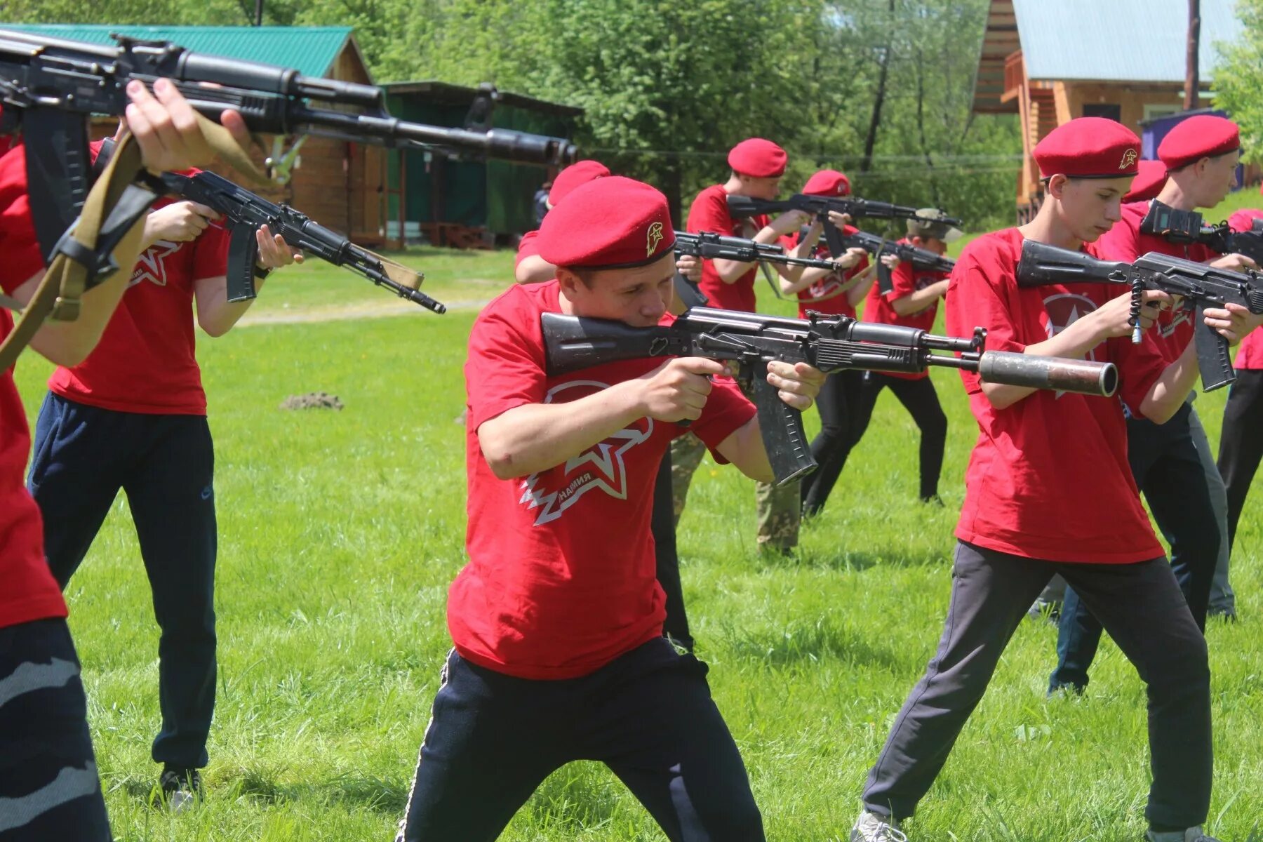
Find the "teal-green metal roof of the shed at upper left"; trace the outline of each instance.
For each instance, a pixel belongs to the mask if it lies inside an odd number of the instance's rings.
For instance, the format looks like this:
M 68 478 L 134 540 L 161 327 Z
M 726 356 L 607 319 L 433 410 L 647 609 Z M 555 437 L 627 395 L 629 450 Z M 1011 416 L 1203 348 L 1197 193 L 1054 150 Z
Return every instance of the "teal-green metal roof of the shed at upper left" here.
M 110 33 L 169 40 L 196 53 L 293 67 L 304 76 L 325 76 L 351 37 L 350 27 L 97 27 L 80 24 L 4 24 L 5 29 L 53 38 L 114 43 Z

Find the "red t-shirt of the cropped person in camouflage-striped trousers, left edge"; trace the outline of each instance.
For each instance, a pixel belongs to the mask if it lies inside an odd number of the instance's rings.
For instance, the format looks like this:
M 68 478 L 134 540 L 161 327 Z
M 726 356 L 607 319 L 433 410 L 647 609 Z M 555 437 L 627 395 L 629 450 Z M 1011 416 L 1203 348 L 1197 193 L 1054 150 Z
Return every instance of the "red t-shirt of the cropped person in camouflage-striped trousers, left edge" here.
M 13 293 L 43 266 L 30 223 L 20 145 L 0 160 L 0 288 L 5 293 Z M 11 329 L 13 317 L 0 309 L 0 341 Z M 9 370 L 0 374 L 0 627 L 66 616 L 66 601 L 44 560 L 39 506 L 27 492 L 28 456 L 27 413 Z

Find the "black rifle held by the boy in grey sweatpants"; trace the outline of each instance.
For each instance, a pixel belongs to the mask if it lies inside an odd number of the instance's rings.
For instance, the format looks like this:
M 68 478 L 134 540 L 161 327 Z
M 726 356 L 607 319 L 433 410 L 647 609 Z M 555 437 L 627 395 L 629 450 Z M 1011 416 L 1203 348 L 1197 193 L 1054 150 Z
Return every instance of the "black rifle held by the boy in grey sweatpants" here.
M 1140 307 L 1147 289 L 1180 295 L 1196 316 L 1194 341 L 1205 391 L 1236 380 L 1228 340 L 1205 323 L 1207 307 L 1242 304 L 1252 313 L 1263 313 L 1263 287 L 1253 271 L 1215 269 L 1201 263 L 1151 251 L 1135 263 L 1098 260 L 1082 251 L 1058 249 L 1027 240 L 1017 270 L 1018 287 L 1045 284 L 1120 284 L 1132 288 L 1132 341 L 1140 341 Z

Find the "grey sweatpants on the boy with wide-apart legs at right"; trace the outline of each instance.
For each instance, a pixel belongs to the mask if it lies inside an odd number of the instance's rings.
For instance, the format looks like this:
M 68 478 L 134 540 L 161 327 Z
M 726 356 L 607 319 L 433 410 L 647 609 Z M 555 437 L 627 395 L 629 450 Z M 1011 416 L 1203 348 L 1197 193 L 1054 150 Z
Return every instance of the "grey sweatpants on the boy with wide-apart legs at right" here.
M 863 795 L 869 810 L 912 815 L 983 698 L 1013 631 L 1053 573 L 1075 588 L 1148 685 L 1149 823 L 1205 822 L 1212 766 L 1210 667 L 1206 641 L 1167 560 L 1068 564 L 964 542 L 956 545 L 938 651 L 869 773 Z

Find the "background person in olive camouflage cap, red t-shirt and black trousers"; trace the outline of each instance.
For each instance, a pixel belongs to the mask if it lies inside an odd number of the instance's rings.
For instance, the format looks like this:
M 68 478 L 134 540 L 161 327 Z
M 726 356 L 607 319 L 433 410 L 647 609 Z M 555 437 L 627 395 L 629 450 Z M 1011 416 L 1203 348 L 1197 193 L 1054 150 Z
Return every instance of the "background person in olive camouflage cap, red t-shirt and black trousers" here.
M 960 231 L 938 220 L 938 212 L 933 210 L 922 211 L 922 217 L 908 220 L 909 242 L 921 249 L 928 249 L 935 254 L 947 254 L 947 242 L 960 236 Z M 893 261 L 893 259 L 890 259 Z M 864 321 L 879 324 L 899 324 L 903 327 L 916 327 L 928 331 L 935 324 L 938 314 L 938 300 L 947 292 L 947 273 L 932 269 L 917 269 L 908 261 L 894 263 L 890 271 L 892 288 L 888 293 L 882 293 L 875 285 L 869 289 L 868 299 L 864 303 Z M 873 418 L 873 406 L 883 389 L 889 388 L 894 396 L 899 399 L 903 408 L 912 415 L 917 429 L 921 430 L 919 466 L 921 489 L 919 497 L 923 502 L 937 502 L 938 476 L 943 467 L 943 448 L 947 444 L 947 415 L 943 414 L 938 403 L 938 393 L 930 379 L 928 371 L 921 374 L 894 374 L 882 371 L 865 371 L 860 379 L 859 395 L 855 400 L 855 415 L 853 419 L 853 433 L 844 449 L 835 457 L 834 478 L 841 473 L 846 465 L 846 457 L 851 449 L 864 438 L 869 420 Z M 827 495 L 826 495 L 827 496 Z M 820 506 L 825 505 L 825 496 L 820 497 Z

